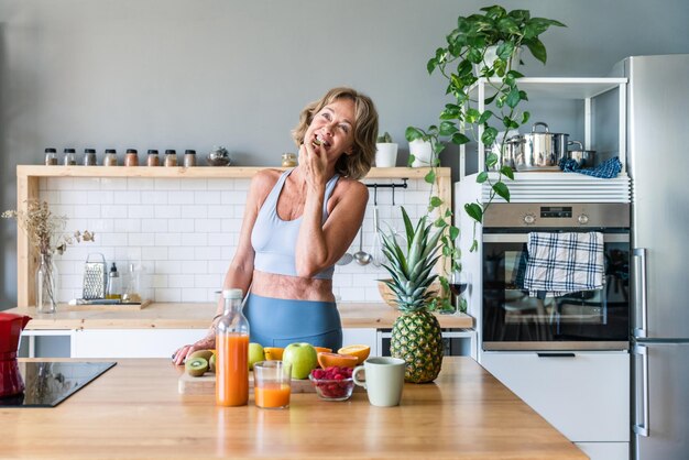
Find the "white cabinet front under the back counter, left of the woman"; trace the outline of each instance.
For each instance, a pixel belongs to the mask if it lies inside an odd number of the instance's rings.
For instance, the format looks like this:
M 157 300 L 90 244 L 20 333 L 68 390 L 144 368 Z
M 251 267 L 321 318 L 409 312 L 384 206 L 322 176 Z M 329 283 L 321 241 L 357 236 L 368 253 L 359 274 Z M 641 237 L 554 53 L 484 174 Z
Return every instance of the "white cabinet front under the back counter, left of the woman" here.
M 207 329 L 84 329 L 72 336 L 72 358 L 171 358 Z

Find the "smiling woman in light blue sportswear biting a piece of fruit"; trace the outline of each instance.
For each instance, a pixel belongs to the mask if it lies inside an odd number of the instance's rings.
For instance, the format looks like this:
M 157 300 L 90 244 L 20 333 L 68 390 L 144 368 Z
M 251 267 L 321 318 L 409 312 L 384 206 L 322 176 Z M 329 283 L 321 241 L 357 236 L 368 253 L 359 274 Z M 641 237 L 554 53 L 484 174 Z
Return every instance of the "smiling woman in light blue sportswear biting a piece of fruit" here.
M 222 284 L 249 293 L 244 315 L 252 342 L 341 347 L 332 272 L 363 221 L 369 191 L 358 179 L 371 168 L 376 135 L 371 99 L 333 88 L 302 111 L 293 132 L 299 165 L 284 173 L 263 169 L 252 179 Z M 217 314 L 206 338 L 175 352 L 176 364 L 196 350 L 215 348 L 222 300 Z

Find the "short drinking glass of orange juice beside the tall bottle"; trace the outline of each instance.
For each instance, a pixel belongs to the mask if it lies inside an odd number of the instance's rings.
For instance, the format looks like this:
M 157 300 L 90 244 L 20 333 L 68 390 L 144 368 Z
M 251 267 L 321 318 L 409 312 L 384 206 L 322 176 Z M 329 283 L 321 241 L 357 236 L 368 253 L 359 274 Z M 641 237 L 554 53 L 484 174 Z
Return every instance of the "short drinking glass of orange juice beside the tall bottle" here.
M 289 407 L 292 364 L 283 361 L 260 361 L 253 364 L 253 398 L 256 407 Z

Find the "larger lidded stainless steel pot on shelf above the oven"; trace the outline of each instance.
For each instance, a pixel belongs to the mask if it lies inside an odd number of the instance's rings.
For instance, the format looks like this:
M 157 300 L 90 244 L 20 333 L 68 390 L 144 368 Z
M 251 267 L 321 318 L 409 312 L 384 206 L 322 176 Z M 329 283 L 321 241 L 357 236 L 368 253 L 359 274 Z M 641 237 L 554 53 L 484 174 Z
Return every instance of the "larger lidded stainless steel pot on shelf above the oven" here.
M 543 127 L 545 132 L 536 132 L 536 127 Z M 546 123 L 538 121 L 531 133 L 507 140 L 502 164 L 516 171 L 559 171 L 560 160 L 567 155 L 568 138 L 569 134 L 550 132 Z

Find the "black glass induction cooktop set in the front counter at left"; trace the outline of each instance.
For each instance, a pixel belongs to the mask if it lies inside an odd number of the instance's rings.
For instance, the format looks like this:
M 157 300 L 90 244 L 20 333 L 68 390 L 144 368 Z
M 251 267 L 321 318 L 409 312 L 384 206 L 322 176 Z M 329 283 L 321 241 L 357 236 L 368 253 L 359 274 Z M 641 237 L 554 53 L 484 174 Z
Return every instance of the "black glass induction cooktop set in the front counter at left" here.
M 20 362 L 24 393 L 0 397 L 0 407 L 55 407 L 91 381 L 114 362 Z

